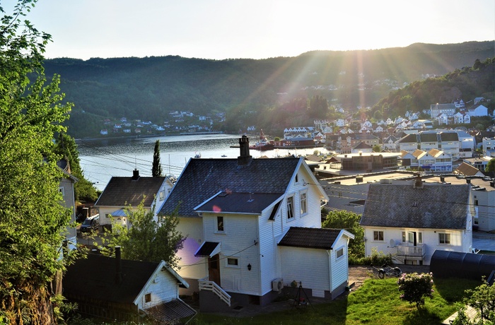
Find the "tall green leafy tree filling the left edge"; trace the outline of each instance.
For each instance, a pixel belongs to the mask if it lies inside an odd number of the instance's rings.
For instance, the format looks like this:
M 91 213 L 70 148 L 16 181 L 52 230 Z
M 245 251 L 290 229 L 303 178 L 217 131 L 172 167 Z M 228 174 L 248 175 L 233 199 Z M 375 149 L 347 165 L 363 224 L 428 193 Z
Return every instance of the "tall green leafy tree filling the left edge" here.
M 0 320 L 10 324 L 57 324 L 50 282 L 69 261 L 52 140 L 71 105 L 61 103 L 59 76 L 45 78 L 50 35 L 23 20 L 35 2 L 18 1 L 12 15 L 0 7 Z

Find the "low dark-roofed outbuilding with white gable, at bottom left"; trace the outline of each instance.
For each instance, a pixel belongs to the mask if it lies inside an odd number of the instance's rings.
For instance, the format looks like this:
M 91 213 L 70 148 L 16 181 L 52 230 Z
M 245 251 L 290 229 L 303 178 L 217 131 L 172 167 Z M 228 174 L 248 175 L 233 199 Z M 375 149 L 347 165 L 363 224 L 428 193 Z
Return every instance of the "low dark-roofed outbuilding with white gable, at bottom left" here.
M 64 297 L 78 304 L 77 312 L 115 321 L 177 324 L 196 312 L 180 300 L 179 287 L 189 285 L 165 261 L 146 262 L 89 254 L 67 267 Z

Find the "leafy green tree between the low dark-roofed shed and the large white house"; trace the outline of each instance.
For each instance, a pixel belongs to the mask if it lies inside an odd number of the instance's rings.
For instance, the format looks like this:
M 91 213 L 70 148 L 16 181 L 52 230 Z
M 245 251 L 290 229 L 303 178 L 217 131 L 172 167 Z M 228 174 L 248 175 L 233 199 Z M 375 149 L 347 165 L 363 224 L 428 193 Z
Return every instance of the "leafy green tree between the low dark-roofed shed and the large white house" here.
M 176 215 L 158 215 L 154 218 L 155 207 L 151 210 L 144 208 L 141 201 L 136 209 L 127 207 L 126 211 L 129 228 L 112 218 L 112 232 L 103 238 L 104 254 L 114 254 L 115 246 L 122 247 L 122 259 L 134 261 L 165 261 L 177 268 L 179 257 L 176 253 L 183 247 L 185 237 L 177 231 L 179 218 Z

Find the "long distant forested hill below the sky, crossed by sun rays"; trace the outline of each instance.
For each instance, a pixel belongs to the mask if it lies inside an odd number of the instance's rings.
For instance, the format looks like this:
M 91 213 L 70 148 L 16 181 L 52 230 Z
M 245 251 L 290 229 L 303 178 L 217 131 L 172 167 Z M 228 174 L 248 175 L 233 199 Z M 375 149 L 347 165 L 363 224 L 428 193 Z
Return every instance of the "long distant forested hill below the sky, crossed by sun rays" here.
M 494 42 L 414 44 L 366 51 L 315 51 L 270 59 L 145 57 L 49 59 L 45 73 L 62 76 L 62 92 L 74 102 L 69 132 L 106 117 L 168 120 L 168 112 L 257 110 L 293 98 L 321 95 L 346 109 L 373 106 L 390 90 L 494 57 Z M 81 112 L 86 113 L 81 118 Z

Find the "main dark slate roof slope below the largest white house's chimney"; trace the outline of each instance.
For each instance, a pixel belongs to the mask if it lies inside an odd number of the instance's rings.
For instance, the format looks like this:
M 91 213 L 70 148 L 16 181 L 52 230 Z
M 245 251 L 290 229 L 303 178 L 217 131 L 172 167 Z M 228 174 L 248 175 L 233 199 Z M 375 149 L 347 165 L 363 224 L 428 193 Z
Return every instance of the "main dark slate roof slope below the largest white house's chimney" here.
M 197 217 L 194 208 L 220 191 L 233 193 L 285 193 L 296 167 L 303 158 L 252 159 L 238 165 L 237 159 L 192 158 L 172 191 L 161 213 Z

